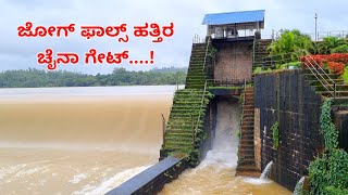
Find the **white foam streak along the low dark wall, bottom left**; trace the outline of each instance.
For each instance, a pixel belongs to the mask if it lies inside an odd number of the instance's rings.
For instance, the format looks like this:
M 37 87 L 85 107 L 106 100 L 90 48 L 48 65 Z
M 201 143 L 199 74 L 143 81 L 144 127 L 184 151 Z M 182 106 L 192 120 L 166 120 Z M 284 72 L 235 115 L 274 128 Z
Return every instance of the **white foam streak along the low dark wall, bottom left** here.
M 109 178 L 105 181 L 102 181 L 99 185 L 94 186 L 90 184 L 85 185 L 80 191 L 73 192 L 74 195 L 95 195 L 95 194 L 105 194 L 112 188 L 121 185 L 125 181 L 135 177 L 136 174 L 142 172 L 151 166 L 136 167 L 133 169 L 127 169 L 122 172 L 116 173 L 114 177 Z

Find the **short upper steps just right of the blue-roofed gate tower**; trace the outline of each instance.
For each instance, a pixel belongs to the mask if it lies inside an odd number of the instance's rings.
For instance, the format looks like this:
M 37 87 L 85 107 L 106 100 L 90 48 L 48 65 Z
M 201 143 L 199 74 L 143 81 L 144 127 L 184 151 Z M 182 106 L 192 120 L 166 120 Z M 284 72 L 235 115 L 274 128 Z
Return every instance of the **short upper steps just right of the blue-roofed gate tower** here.
M 262 66 L 262 58 L 269 56 L 266 48 L 272 43 L 272 39 L 256 40 L 253 68 Z M 271 64 L 270 64 L 271 65 Z

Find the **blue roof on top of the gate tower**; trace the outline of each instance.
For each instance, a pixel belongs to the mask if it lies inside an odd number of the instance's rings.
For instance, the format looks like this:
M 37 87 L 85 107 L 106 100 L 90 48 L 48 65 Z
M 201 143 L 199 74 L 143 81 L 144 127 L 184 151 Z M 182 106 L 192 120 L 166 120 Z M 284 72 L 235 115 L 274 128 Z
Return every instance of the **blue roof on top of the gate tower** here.
M 207 14 L 202 25 L 263 22 L 264 10 Z

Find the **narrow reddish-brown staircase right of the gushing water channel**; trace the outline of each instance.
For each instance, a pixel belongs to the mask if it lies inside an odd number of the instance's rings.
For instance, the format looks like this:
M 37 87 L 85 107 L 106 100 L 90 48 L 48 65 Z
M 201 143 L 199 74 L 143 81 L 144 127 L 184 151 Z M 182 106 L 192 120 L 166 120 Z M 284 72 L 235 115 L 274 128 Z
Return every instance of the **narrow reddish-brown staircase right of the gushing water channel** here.
M 253 88 L 247 88 L 244 95 L 245 103 L 243 107 L 243 125 L 240 130 L 236 176 L 260 177 L 260 171 L 258 170 L 254 161 Z

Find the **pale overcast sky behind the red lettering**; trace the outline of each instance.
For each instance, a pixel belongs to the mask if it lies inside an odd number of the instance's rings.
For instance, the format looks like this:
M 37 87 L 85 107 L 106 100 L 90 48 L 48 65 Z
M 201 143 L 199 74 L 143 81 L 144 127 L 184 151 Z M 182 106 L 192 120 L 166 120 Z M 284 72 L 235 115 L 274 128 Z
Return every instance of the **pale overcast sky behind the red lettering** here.
M 234 12 L 246 10 L 265 10 L 265 29 L 298 28 L 304 32 L 314 31 L 314 13 L 319 14 L 320 31 L 348 30 L 347 0 L 0 0 L 0 70 L 23 69 L 28 67 L 46 68 L 37 64 L 36 54 L 52 48 L 59 52 L 75 52 L 79 56 L 90 49 L 97 51 L 129 51 L 134 60 L 149 58 L 154 50 L 156 64 L 133 65 L 60 65 L 58 69 L 88 74 L 108 74 L 114 67 L 127 69 L 149 69 L 151 67 L 188 65 L 191 40 L 195 34 L 201 37 L 206 27 L 201 25 L 207 13 Z M 18 38 L 17 27 L 27 21 L 34 26 L 58 26 L 75 23 L 75 32 L 69 38 Z M 175 34 L 162 43 L 152 43 L 151 39 L 135 39 L 128 43 L 119 43 L 111 38 L 86 40 L 79 37 L 83 25 L 120 25 L 127 23 L 127 34 L 133 26 L 148 23 L 175 25 Z M 84 57 L 80 58 L 83 61 Z

